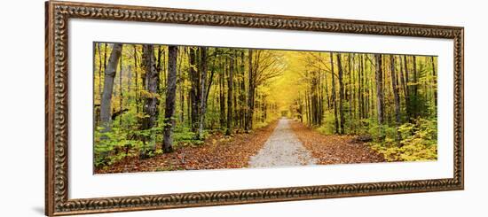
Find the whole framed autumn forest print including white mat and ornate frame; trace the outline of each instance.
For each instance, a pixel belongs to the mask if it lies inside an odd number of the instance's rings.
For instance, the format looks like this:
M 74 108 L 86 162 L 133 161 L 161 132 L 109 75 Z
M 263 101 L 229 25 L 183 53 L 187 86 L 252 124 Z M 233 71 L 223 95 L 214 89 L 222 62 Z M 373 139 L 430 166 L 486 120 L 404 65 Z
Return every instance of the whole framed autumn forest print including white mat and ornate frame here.
M 462 190 L 462 27 L 49 1 L 45 214 Z

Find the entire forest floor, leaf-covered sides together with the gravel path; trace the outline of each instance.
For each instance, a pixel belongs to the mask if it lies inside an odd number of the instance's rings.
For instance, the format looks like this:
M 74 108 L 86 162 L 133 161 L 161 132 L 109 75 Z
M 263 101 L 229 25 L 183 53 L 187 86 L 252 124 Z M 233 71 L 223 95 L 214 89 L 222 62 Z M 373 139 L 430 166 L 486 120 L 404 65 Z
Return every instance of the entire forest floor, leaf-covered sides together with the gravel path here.
M 354 142 L 354 137 L 323 135 L 298 121 L 281 119 L 250 134 L 216 134 L 200 145 L 177 147 L 153 158 L 122 159 L 96 174 L 386 161 L 366 143 Z

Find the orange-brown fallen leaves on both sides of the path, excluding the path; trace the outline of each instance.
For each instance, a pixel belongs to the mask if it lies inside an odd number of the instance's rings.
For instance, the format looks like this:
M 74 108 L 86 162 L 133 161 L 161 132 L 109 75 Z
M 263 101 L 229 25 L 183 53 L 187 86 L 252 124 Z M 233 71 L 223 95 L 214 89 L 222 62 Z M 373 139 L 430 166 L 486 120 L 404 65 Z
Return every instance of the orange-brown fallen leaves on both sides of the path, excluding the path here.
M 278 121 L 272 121 L 251 133 L 209 136 L 204 143 L 178 147 L 168 154 L 153 158 L 127 157 L 111 167 L 100 168 L 96 174 L 159 172 L 176 170 L 229 169 L 249 167 L 249 159 L 263 149 Z M 358 142 L 357 136 L 324 135 L 297 120 L 290 127 L 315 164 L 354 164 L 385 162 L 382 154 L 371 149 L 368 143 Z M 278 150 L 273 150 L 278 151 Z M 293 165 L 290 165 L 293 166 Z

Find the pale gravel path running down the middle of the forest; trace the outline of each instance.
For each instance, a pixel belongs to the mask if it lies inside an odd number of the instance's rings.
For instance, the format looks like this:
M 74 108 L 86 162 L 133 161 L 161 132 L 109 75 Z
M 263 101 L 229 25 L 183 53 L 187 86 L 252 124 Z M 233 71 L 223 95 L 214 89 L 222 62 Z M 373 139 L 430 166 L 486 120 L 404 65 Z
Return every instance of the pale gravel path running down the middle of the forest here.
M 291 130 L 290 121 L 292 120 L 279 120 L 263 149 L 249 159 L 248 167 L 300 166 L 317 162 Z

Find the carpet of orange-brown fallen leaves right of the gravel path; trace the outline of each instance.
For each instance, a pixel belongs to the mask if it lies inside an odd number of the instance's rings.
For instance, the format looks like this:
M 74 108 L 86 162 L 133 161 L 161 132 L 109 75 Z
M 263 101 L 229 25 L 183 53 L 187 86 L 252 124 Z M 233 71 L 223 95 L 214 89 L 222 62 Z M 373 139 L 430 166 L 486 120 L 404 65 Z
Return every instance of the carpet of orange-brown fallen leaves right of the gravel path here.
M 354 142 L 355 136 L 323 135 L 298 121 L 290 121 L 290 125 L 319 165 L 386 162 L 366 143 Z

